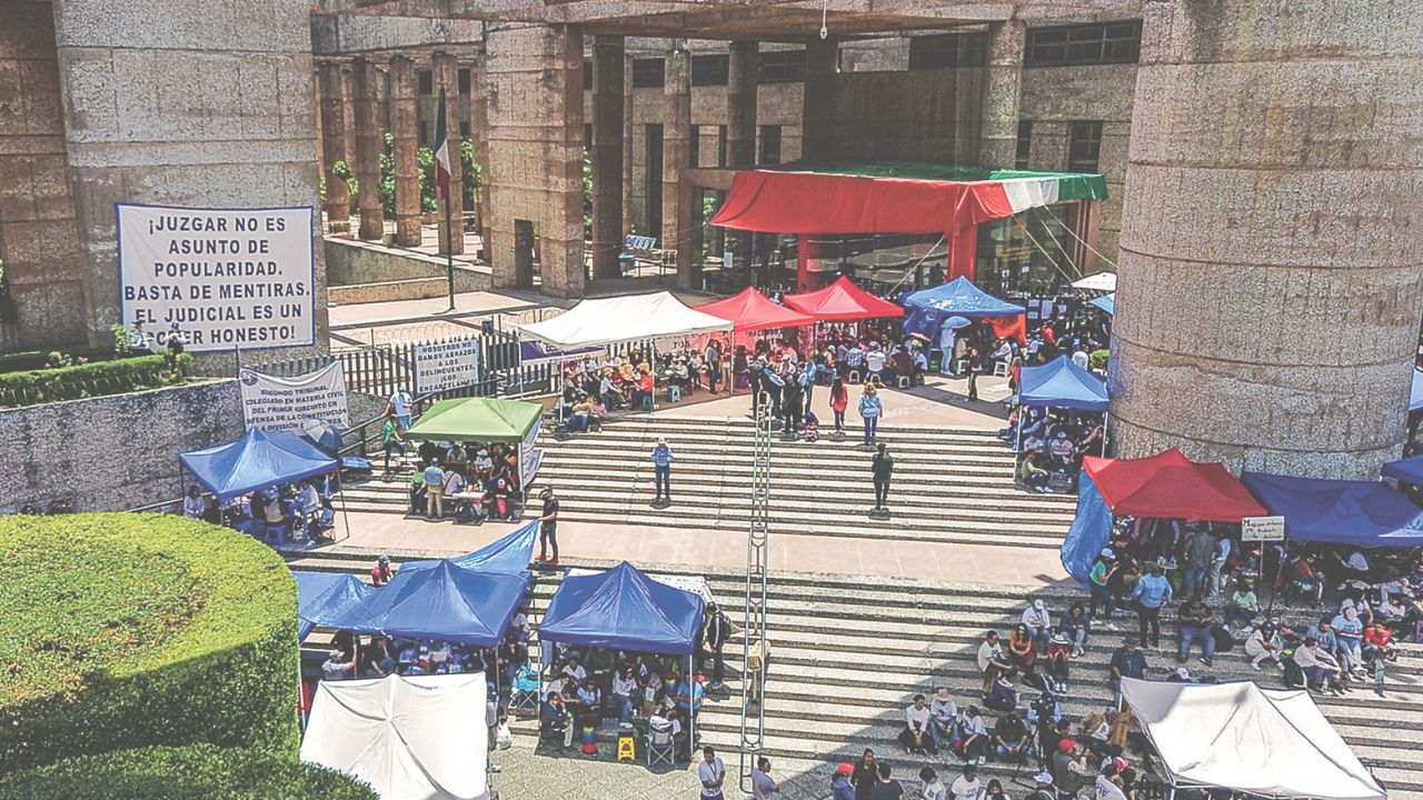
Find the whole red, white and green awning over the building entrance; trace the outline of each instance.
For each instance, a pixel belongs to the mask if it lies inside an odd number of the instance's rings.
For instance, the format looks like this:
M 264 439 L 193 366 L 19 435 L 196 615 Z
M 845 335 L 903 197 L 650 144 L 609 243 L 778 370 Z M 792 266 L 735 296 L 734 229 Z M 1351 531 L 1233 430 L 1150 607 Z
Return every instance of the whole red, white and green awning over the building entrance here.
M 763 233 L 956 233 L 1029 208 L 1106 199 L 1101 175 L 936 164 L 743 169 L 713 225 Z

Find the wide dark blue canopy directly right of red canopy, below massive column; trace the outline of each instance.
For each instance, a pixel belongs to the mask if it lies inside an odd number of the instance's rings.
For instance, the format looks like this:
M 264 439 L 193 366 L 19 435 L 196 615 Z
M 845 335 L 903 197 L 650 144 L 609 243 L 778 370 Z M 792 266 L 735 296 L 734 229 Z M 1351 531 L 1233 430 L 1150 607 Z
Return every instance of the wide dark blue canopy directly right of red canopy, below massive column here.
M 1295 541 L 1355 547 L 1423 545 L 1423 510 L 1382 481 L 1241 473 L 1241 483 Z

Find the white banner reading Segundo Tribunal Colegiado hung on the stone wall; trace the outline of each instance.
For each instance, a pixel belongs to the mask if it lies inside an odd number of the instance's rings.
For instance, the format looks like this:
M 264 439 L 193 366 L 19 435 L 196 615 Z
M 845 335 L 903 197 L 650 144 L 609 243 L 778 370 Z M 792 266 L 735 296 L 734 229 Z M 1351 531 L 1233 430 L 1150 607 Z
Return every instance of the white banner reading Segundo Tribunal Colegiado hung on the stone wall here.
M 306 420 L 346 427 L 346 373 L 340 362 L 302 377 L 276 377 L 255 370 L 238 373 L 242 419 L 248 428 L 290 430 Z

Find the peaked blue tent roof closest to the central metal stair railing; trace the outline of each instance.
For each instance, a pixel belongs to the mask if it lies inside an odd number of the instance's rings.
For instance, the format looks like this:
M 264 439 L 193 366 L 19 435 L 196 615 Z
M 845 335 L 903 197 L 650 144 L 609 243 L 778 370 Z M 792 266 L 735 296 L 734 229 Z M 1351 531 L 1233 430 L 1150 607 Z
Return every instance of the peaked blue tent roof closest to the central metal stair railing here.
M 690 655 L 702 612 L 699 595 L 653 581 L 623 561 L 598 575 L 564 578 L 538 635 L 546 642 Z

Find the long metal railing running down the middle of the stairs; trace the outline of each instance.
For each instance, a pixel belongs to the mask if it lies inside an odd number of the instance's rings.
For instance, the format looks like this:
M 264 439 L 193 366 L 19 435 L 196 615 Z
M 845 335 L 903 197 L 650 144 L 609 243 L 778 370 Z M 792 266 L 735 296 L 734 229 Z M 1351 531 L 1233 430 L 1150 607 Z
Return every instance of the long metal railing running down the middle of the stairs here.
M 746 538 L 746 625 L 741 638 L 740 774 L 741 790 L 747 793 L 751 791 L 751 769 L 766 747 L 766 669 L 770 660 L 770 643 L 766 639 L 766 542 L 771 515 L 771 400 L 761 393 L 756 399 L 751 527 Z

